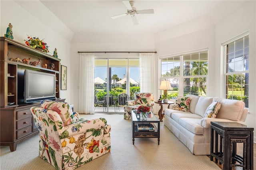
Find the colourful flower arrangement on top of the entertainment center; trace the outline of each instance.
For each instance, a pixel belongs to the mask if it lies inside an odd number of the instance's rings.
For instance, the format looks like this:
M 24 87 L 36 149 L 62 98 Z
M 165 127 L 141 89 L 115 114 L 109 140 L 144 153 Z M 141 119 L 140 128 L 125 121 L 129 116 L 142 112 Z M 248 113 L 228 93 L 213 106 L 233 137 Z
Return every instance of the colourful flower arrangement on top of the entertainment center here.
M 41 48 L 43 52 L 48 53 L 48 45 L 43 41 L 44 39 L 40 40 L 38 37 L 28 36 L 27 40 L 24 40 L 26 45 L 32 48 Z

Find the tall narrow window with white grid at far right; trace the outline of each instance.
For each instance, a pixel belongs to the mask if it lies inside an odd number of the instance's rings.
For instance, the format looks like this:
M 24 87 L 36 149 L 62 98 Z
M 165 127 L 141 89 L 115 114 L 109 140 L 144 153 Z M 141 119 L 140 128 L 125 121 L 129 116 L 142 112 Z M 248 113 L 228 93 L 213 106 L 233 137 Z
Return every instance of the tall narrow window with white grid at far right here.
M 249 100 L 249 35 L 226 43 L 226 99 Z

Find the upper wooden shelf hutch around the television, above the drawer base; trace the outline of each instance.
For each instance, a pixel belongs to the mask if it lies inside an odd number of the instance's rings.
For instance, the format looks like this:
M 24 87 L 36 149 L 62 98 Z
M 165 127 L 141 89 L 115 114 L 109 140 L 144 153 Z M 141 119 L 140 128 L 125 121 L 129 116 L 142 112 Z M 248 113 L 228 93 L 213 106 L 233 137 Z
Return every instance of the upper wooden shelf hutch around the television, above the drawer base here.
M 0 37 L 0 85 L 1 97 L 0 107 L 9 107 L 8 102 L 17 104 L 24 103 L 24 70 L 42 71 L 45 73 L 55 74 L 56 76 L 56 98 L 60 98 L 60 59 L 53 57 L 42 51 L 38 51 L 26 45 L 25 43 L 16 42 L 9 38 Z M 18 62 L 10 59 L 19 58 Z M 20 62 L 22 59 L 30 59 L 28 63 Z M 41 60 L 37 66 L 30 65 L 30 61 Z M 50 64 L 54 64 L 54 69 Z M 47 68 L 42 67 L 47 64 Z M 3 87 L 3 88 L 2 88 Z M 12 95 L 8 95 L 12 93 Z

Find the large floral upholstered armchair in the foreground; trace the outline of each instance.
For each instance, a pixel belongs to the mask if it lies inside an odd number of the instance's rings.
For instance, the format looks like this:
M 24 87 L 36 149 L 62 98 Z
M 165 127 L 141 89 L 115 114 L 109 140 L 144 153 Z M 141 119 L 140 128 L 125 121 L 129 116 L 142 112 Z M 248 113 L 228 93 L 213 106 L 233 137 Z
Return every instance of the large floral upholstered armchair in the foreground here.
M 42 101 L 30 108 L 40 136 L 39 156 L 56 170 L 71 170 L 110 152 L 106 119 L 79 119 L 68 103 Z

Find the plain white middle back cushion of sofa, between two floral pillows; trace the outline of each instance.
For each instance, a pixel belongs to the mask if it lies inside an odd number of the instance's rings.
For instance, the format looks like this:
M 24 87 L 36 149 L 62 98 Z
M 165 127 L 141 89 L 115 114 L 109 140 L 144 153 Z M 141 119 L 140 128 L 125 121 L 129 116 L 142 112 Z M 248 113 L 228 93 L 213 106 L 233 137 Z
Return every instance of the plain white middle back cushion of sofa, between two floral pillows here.
M 212 103 L 212 97 L 200 96 L 196 104 L 195 114 L 204 117 L 204 113 L 211 103 Z

